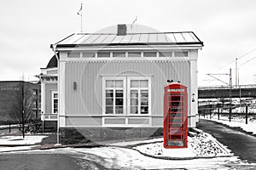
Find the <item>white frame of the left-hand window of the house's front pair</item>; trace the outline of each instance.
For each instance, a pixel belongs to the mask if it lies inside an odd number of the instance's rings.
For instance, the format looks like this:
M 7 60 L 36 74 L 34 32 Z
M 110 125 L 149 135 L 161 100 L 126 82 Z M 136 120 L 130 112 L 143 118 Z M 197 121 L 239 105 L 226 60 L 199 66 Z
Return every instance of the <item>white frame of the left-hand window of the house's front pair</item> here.
M 106 88 L 107 80 L 122 80 L 123 88 Z M 115 110 L 113 110 L 113 114 L 106 113 L 106 90 L 113 89 L 115 90 L 123 90 L 123 114 L 115 114 Z M 113 93 L 115 94 L 115 93 Z M 113 95 L 113 105 L 115 105 L 115 95 Z M 125 77 L 102 77 L 102 115 L 104 116 L 125 116 L 126 115 L 126 78 Z

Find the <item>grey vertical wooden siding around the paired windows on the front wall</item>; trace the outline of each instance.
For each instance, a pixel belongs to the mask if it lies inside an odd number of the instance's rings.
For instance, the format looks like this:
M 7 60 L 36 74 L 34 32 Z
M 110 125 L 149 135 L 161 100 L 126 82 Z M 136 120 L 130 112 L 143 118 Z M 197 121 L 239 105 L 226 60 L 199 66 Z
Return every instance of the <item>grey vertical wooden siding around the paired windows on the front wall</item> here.
M 163 115 L 167 79 L 190 87 L 189 61 L 69 61 L 65 69 L 66 115 L 102 115 L 103 76 L 148 75 L 152 78 L 152 115 L 155 116 Z

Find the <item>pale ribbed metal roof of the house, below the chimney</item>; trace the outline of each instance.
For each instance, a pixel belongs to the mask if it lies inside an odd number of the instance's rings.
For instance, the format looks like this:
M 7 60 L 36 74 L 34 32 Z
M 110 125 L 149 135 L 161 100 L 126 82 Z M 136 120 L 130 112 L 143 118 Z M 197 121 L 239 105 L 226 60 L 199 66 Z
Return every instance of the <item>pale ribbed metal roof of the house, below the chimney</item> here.
M 118 45 L 201 45 L 203 42 L 193 31 L 127 33 L 118 36 L 113 33 L 75 33 L 60 42 L 57 48 L 72 48 L 76 46 L 118 46 Z

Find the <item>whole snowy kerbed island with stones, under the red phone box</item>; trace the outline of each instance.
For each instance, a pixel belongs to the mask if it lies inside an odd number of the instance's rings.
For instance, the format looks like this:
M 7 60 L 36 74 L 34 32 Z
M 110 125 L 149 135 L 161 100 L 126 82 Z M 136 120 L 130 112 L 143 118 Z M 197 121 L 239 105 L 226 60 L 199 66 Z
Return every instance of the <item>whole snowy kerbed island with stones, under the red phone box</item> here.
M 211 156 L 231 156 L 231 150 L 226 149 L 217 139 L 209 133 L 200 133 L 193 138 L 189 137 L 188 148 L 164 148 L 163 142 L 142 144 L 133 149 L 148 156 L 171 158 L 194 158 Z

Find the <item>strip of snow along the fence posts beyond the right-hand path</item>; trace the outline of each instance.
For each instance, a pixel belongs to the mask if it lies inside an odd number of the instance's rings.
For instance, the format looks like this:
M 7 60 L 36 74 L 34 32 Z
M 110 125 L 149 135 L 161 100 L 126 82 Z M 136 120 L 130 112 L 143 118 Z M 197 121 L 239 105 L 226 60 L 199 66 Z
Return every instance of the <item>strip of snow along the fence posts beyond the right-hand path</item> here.
M 206 116 L 207 119 L 210 119 L 209 116 Z M 244 119 L 235 118 L 229 121 L 228 117 L 221 117 L 220 120 L 218 120 L 218 116 L 212 116 L 212 121 L 220 122 L 225 125 L 228 125 L 230 127 L 241 127 L 246 132 L 251 132 L 253 134 L 256 134 L 256 122 L 249 122 L 246 124 Z

